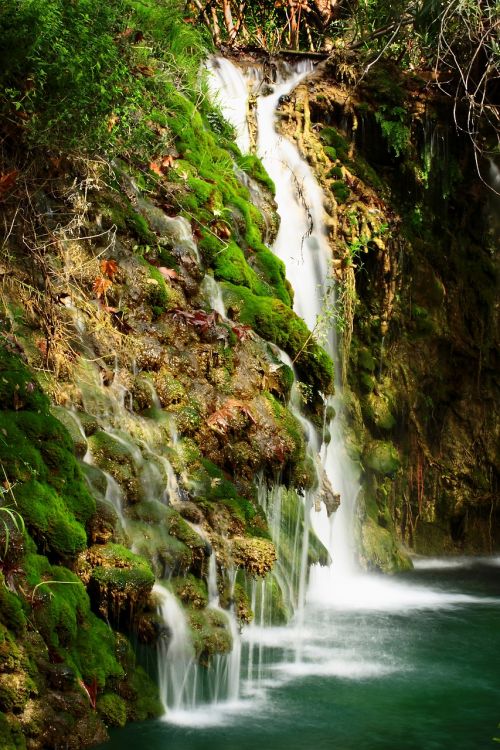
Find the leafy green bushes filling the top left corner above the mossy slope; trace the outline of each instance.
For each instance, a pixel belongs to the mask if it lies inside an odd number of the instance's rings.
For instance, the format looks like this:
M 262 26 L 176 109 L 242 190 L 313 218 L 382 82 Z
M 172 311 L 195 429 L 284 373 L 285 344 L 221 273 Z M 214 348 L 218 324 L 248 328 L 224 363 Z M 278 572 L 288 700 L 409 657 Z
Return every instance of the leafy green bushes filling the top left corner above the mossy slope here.
M 198 96 L 205 46 L 176 0 L 5 0 L 0 50 L 0 111 L 29 143 L 147 155 L 145 115 L 165 78 Z

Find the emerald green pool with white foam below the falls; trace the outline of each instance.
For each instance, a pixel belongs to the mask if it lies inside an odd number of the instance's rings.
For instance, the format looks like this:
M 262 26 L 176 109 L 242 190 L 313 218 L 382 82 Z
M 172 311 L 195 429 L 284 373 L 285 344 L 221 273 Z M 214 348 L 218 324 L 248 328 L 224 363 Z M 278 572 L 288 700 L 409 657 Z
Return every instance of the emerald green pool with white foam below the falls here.
M 499 560 L 441 566 L 354 582 L 342 607 L 308 607 L 302 629 L 255 632 L 236 705 L 130 725 L 103 750 L 496 747 Z

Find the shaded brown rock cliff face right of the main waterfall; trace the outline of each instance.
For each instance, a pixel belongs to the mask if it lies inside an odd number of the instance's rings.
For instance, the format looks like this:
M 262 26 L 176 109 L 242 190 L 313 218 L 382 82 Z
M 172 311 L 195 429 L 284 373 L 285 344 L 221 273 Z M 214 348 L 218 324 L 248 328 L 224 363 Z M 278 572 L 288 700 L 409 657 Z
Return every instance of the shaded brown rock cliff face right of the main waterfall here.
M 346 420 L 368 568 L 498 549 L 498 227 L 447 100 L 418 75 L 320 66 L 282 108 L 329 196 Z

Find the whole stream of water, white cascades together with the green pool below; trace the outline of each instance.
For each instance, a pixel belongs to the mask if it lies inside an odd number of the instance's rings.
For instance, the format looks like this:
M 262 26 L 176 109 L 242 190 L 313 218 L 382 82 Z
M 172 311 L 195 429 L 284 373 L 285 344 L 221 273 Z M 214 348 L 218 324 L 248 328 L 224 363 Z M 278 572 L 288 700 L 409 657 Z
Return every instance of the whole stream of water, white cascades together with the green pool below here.
M 248 150 L 249 88 L 255 70 L 245 73 L 228 60 L 213 61 L 212 90 L 219 92 L 238 144 Z M 330 293 L 330 248 L 323 220 L 323 194 L 294 144 L 275 127 L 276 108 L 312 69 L 309 62 L 278 71 L 272 91 L 259 96 L 257 150 L 276 184 L 281 228 L 274 252 L 286 265 L 295 291 L 294 308 L 312 330 Z M 225 314 L 210 277 L 207 293 Z M 336 363 L 333 330 L 324 336 Z M 291 364 L 286 355 L 279 358 Z M 286 529 L 290 564 L 278 563 L 275 579 L 295 611 L 287 626 L 271 627 L 269 581 L 254 582 L 255 621 L 242 642 L 229 614 L 235 649 L 215 664 L 216 694 L 200 700 L 183 614 L 175 597 L 157 593 L 164 621 L 173 633 L 160 652 L 172 663 L 161 676 L 169 707 L 162 722 L 117 732 L 109 750 L 147 743 L 151 750 L 299 750 L 305 746 L 349 750 L 472 750 L 489 747 L 500 720 L 495 658 L 500 645 L 498 561 L 423 561 L 415 572 L 384 578 L 362 574 L 354 545 L 358 469 L 349 459 L 342 433 L 342 388 L 336 378 L 331 405 L 336 418 L 321 436 L 301 412 L 293 392 L 290 408 L 309 436 L 318 476 L 326 475 L 341 498 L 328 515 L 312 493 L 304 499 L 301 526 Z M 259 485 L 273 539 L 280 550 L 283 493 L 279 484 Z M 312 526 L 331 556 L 331 565 L 314 566 L 307 577 L 307 534 Z M 292 540 L 292 543 L 290 543 Z M 447 567 L 448 565 L 448 567 Z M 217 564 L 208 561 L 210 607 L 218 608 Z M 174 601 L 173 601 L 174 600 Z M 218 671 L 217 671 L 218 670 Z M 240 677 L 241 672 L 241 677 Z M 214 683 L 212 683 L 213 685 Z M 209 690 L 210 693 L 210 690 Z M 200 705 L 201 704 L 201 705 Z M 495 713 L 496 712 L 496 713 Z M 186 726 L 187 725 L 187 726 Z

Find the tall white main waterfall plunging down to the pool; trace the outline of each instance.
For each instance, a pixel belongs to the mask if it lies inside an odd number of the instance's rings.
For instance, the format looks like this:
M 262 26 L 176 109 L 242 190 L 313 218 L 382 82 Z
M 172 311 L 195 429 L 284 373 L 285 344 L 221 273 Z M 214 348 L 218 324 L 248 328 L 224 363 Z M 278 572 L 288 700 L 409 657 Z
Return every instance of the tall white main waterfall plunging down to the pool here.
M 233 115 L 233 107 L 225 107 L 228 92 L 233 92 L 233 101 L 242 102 L 245 96 L 258 93 L 255 86 L 255 72 L 248 76 L 242 71 L 232 70 L 235 66 L 228 60 L 223 64 L 212 63 L 211 70 L 217 70 L 217 80 L 222 82 L 226 92 L 219 97 L 223 113 L 236 127 L 241 128 L 241 112 Z M 331 247 L 324 219 L 324 195 L 312 169 L 301 156 L 297 146 L 284 138 L 276 129 L 276 110 L 280 100 L 313 70 L 313 63 L 301 61 L 295 66 L 283 64 L 277 71 L 277 80 L 270 93 L 257 99 L 257 153 L 276 186 L 276 203 L 280 216 L 280 229 L 273 251 L 285 263 L 287 278 L 294 289 L 294 310 L 307 323 L 310 330 L 316 330 L 325 316 L 325 307 L 331 305 L 333 282 L 330 274 Z M 234 92 L 236 81 L 241 87 Z M 244 105 L 246 112 L 247 106 Z M 246 143 L 246 141 L 245 141 Z M 342 385 L 336 333 L 333 325 L 325 332 L 325 348 L 335 363 L 336 395 L 330 400 L 335 418 L 329 425 L 331 439 L 328 445 L 322 444 L 313 425 L 301 412 L 300 398 L 292 396 L 289 408 L 302 422 L 309 436 L 310 450 L 320 453 L 321 463 L 334 491 L 340 495 L 340 508 L 331 517 L 322 505 L 319 512 L 311 511 L 311 523 L 317 536 L 327 547 L 332 564 L 311 570 L 308 599 L 329 601 L 337 595 L 345 598 L 352 590 L 353 578 L 357 572 L 354 526 L 355 507 L 359 493 L 358 469 L 350 460 L 344 445 L 342 431 Z M 283 361 L 291 364 L 280 353 Z M 315 506 L 318 503 L 306 502 Z M 307 533 L 307 530 L 306 530 Z M 303 547 L 304 549 L 304 547 Z M 305 575 L 305 565 L 302 575 Z M 302 598 L 304 592 L 302 592 Z M 299 605 L 299 610 L 301 609 Z

